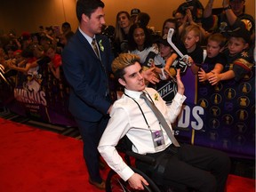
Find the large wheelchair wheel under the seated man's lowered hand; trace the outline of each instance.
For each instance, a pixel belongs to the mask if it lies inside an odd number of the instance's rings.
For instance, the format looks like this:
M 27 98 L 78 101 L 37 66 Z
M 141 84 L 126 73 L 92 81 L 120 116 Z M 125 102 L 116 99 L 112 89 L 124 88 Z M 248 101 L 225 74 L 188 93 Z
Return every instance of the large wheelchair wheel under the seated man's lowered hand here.
M 131 167 L 131 168 L 133 172 L 140 174 L 145 180 L 148 181 L 149 185 L 144 186 L 143 191 L 161 192 L 160 189 L 153 182 L 153 180 L 149 179 L 145 173 L 140 172 L 140 170 L 134 167 Z M 125 182 L 124 180 L 122 180 L 122 178 L 120 178 L 119 175 L 113 170 L 110 170 L 110 172 L 108 172 L 108 177 L 106 180 L 106 192 L 130 192 L 130 191 L 132 192 L 132 191 L 139 191 L 139 190 L 135 190 L 131 188 L 129 183 L 127 181 Z

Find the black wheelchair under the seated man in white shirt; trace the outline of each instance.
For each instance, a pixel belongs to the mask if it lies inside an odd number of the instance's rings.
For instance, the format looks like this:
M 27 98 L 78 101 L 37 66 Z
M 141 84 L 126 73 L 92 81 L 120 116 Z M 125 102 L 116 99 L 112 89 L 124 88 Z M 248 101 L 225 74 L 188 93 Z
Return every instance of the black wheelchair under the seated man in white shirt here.
M 128 149 L 129 148 L 129 149 Z M 150 167 L 159 167 L 158 160 L 152 156 L 144 156 L 132 152 L 132 142 L 126 136 L 119 141 L 116 146 L 118 152 L 124 153 L 124 161 L 130 166 L 133 172 L 140 174 L 145 180 L 148 181 L 148 186 L 144 186 L 143 191 L 148 192 L 192 192 L 191 188 L 187 188 L 185 185 L 180 183 L 170 183 L 170 181 L 164 181 L 161 177 L 163 175 L 163 164 L 162 172 L 161 168 L 153 172 Z M 141 165 L 142 164 L 142 165 Z M 140 168 L 139 168 L 140 167 Z M 161 166 L 160 166 L 161 167 Z M 144 170 L 141 171 L 141 168 Z M 116 172 L 110 170 L 106 179 L 106 192 L 132 192 L 142 191 L 135 190 L 130 187 L 128 181 L 124 181 Z

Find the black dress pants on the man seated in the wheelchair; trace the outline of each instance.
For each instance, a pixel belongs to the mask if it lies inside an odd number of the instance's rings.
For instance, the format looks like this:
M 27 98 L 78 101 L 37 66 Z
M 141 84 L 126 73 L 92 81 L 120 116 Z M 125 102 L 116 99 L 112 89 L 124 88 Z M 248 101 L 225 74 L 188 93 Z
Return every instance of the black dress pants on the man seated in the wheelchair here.
M 185 185 L 200 192 L 224 192 L 230 169 L 227 154 L 212 148 L 181 144 L 148 156 L 164 156 L 164 183 Z M 163 161 L 162 161 L 163 162 Z M 155 172 L 163 170 L 155 167 Z

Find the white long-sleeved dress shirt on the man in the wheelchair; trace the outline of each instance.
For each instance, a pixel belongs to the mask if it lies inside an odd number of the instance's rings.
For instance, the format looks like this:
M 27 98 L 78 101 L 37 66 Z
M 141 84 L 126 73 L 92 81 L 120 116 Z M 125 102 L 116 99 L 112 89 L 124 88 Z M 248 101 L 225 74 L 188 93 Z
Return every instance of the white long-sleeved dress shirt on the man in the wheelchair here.
M 165 120 L 172 129 L 171 123 L 173 123 L 180 114 L 182 103 L 186 100 L 186 97 L 177 93 L 172 100 L 172 104 L 166 106 L 165 101 L 156 90 L 146 88 L 145 91 L 148 92 L 156 108 L 162 112 Z M 123 180 L 128 180 L 134 172 L 124 163 L 123 158 L 119 156 L 116 151 L 118 141 L 123 138 L 125 134 L 132 141 L 132 151 L 139 154 L 156 153 L 150 130 L 154 132 L 162 129 L 165 148 L 170 146 L 172 141 L 164 131 L 164 128 L 160 127 L 159 121 L 154 112 L 148 107 L 145 100 L 140 99 L 141 92 L 133 92 L 124 89 L 124 93 L 138 102 L 150 127 L 148 128 L 148 124 L 146 124 L 136 102 L 124 94 L 122 98 L 116 100 L 113 105 L 110 113 L 111 118 L 109 119 L 105 132 L 101 136 L 98 149 L 110 168 L 117 172 Z

